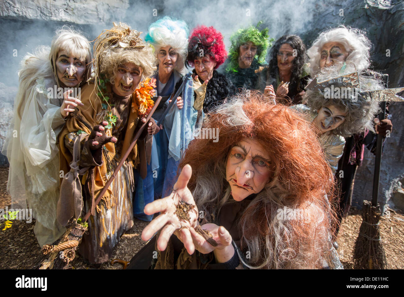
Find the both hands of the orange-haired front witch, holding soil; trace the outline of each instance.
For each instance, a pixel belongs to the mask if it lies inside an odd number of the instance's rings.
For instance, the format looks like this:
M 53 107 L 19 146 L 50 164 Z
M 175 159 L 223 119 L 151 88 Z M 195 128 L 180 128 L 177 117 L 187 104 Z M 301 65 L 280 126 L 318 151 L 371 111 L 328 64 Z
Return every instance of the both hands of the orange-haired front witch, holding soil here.
M 212 223 L 199 225 L 198 208 L 187 187 L 191 175 L 191 166 L 187 164 L 183 167 L 170 196 L 145 206 L 145 214 L 161 214 L 145 227 L 142 239 L 149 240 L 161 229 L 157 240 L 159 251 L 166 249 L 168 240 L 175 234 L 183 242 L 189 255 L 192 255 L 195 249 L 204 254 L 213 251 L 217 262 L 226 262 L 234 255 L 231 235 L 223 226 Z

